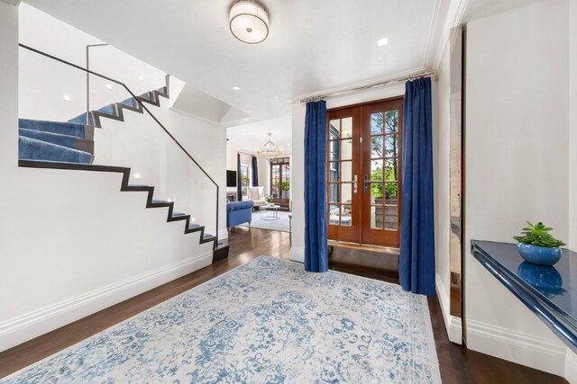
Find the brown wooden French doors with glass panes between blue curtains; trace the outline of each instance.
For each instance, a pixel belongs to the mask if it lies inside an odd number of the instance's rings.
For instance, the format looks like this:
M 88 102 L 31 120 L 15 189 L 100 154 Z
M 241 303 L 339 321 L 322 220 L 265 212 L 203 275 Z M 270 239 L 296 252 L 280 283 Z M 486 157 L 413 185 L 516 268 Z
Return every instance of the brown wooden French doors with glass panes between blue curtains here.
M 398 248 L 403 97 L 327 113 L 328 238 Z

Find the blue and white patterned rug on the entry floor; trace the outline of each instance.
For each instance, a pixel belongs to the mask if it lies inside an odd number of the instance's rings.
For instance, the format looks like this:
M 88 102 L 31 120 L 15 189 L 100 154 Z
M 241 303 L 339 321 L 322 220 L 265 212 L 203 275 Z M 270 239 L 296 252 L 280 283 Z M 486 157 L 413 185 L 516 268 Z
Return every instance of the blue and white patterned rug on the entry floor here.
M 426 297 L 260 257 L 0 380 L 441 382 Z

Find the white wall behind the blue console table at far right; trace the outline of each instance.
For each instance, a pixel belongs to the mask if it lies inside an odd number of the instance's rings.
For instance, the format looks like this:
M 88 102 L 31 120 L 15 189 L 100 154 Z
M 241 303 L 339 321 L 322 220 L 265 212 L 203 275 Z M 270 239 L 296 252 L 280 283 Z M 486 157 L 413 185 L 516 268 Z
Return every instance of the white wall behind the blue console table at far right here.
M 525 221 L 567 239 L 568 1 L 468 24 L 466 239 L 513 243 Z M 465 260 L 467 345 L 563 375 L 564 344 L 478 263 Z

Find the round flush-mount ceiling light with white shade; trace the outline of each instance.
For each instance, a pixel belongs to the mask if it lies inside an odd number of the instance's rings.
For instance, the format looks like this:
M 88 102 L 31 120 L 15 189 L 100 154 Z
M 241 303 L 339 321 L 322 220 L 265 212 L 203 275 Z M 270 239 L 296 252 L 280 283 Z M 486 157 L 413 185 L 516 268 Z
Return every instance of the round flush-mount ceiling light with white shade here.
M 234 37 L 247 44 L 257 44 L 269 36 L 269 13 L 261 4 L 240 0 L 228 13 Z

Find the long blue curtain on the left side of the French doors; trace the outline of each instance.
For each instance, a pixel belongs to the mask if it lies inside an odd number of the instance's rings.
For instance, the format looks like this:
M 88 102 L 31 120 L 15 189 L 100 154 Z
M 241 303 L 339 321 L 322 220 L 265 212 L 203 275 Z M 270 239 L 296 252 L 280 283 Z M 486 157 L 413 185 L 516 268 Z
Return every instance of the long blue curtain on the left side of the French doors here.
M 307 103 L 305 121 L 305 270 L 328 271 L 326 102 Z

